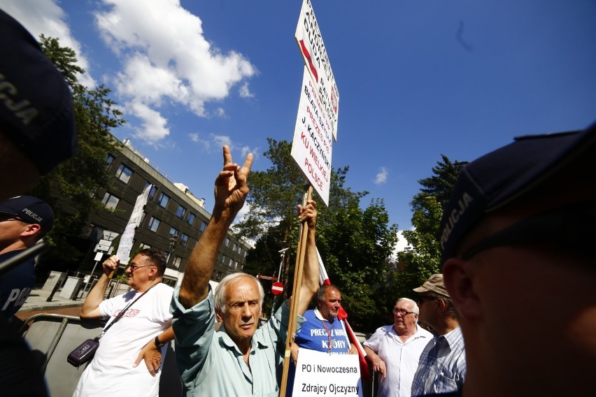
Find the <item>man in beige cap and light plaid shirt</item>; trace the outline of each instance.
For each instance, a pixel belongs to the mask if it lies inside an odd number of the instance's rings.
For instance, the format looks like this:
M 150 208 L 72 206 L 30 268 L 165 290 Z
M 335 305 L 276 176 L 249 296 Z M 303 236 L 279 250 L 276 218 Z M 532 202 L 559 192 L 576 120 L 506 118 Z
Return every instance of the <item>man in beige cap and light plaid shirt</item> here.
M 412 397 L 457 391 L 466 375 L 466 354 L 460 324 L 445 289 L 443 275 L 430 276 L 414 291 L 418 292 L 420 319 L 432 326 L 437 337 L 428 342 L 420 354 L 412 382 Z

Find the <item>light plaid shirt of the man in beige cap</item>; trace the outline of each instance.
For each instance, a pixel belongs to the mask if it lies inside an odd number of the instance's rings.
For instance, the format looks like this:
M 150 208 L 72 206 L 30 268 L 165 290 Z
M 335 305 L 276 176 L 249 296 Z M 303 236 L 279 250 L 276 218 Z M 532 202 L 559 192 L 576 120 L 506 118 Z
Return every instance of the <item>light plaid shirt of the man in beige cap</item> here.
M 414 375 L 412 396 L 457 391 L 464 384 L 466 354 L 462 330 L 433 338 L 420 354 L 418 370 Z

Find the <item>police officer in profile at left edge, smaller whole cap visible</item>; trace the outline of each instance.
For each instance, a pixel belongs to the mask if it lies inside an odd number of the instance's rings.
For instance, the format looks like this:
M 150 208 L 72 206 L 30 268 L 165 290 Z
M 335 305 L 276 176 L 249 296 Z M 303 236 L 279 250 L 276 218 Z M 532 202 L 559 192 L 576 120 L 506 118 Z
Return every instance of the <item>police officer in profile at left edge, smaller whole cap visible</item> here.
M 54 212 L 34 196 L 17 196 L 0 204 L 0 263 L 33 247 L 52 229 Z M 35 259 L 28 259 L 0 277 L 0 310 L 12 317 L 27 301 L 35 284 Z

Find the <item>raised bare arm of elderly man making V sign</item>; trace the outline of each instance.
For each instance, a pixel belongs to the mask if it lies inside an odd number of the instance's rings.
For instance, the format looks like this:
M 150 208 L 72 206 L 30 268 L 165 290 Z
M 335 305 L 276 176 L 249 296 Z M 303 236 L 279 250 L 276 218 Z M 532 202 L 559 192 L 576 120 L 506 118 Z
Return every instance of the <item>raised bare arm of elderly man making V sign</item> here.
M 190 254 L 180 285 L 179 301 L 187 309 L 207 297 L 209 279 L 220 246 L 248 196 L 246 178 L 253 165 L 253 154 L 246 156 L 242 167 L 232 162 L 232 153 L 227 146 L 223 147 L 223 157 L 223 170 L 215 179 L 215 205 L 211 220 Z

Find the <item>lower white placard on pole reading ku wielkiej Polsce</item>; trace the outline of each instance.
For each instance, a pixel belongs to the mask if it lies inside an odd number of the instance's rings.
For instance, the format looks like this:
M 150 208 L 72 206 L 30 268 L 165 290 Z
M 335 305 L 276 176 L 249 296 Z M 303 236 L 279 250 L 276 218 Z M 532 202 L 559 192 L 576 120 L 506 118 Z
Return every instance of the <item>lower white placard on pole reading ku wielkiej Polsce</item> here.
M 325 204 L 329 205 L 332 154 L 329 119 L 322 109 L 306 67 L 302 78 L 291 154 L 306 179 L 311 182 Z

